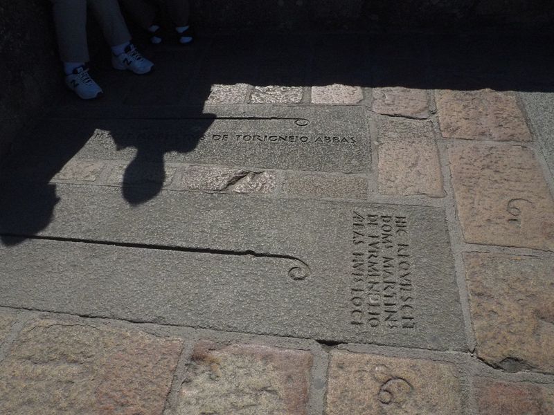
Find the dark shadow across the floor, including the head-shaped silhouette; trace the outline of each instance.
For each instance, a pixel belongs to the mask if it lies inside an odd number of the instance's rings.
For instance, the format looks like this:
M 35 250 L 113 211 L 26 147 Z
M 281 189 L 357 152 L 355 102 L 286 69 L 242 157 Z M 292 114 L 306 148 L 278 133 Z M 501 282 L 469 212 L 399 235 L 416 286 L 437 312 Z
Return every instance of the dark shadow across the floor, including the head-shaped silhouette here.
M 193 151 L 210 127 L 213 115 L 203 107 L 213 84 L 554 92 L 553 40 L 552 33 L 258 33 L 199 39 L 187 47 L 145 46 L 145 55 L 156 64 L 152 75 L 116 73 L 105 63 L 93 66 L 106 97 L 80 102 L 68 92 L 2 166 L 0 234 L 19 235 L 2 240 L 17 243 L 46 228 L 58 201 L 51 179 L 98 130 L 111 132 L 112 142 L 105 143 L 108 154 L 136 150 L 124 183 L 140 175 L 146 165 L 157 166 L 148 185 L 123 187 L 130 205 L 153 199 L 164 181 L 164 156 Z M 118 120 L 141 125 L 172 117 L 187 120 L 195 134 L 179 138 L 151 129 L 150 136 L 134 136 L 117 128 Z

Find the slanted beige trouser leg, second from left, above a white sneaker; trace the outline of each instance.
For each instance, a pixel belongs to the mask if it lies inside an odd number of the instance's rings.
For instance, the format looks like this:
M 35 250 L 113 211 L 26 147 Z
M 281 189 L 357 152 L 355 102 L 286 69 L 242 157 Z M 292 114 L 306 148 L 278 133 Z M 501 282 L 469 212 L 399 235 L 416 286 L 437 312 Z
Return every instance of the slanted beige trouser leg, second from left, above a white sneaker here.
M 131 35 L 121 15 L 117 0 L 88 0 L 95 12 L 104 37 L 111 48 L 126 45 L 131 42 Z

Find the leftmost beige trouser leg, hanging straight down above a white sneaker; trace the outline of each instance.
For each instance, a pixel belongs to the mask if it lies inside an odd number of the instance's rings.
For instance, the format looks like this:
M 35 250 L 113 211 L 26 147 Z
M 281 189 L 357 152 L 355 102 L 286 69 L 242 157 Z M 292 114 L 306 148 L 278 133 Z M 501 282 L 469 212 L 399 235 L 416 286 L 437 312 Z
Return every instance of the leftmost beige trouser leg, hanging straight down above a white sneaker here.
M 87 0 L 52 0 L 57 45 L 63 62 L 89 62 Z

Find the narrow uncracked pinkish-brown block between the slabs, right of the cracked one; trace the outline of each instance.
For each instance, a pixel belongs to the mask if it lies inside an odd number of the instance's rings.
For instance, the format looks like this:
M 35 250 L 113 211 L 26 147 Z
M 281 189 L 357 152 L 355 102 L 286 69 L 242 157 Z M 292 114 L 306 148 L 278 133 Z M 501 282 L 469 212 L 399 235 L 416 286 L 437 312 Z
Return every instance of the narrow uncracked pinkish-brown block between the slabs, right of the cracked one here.
M 352 174 L 286 172 L 283 192 L 289 196 L 367 199 L 368 179 Z

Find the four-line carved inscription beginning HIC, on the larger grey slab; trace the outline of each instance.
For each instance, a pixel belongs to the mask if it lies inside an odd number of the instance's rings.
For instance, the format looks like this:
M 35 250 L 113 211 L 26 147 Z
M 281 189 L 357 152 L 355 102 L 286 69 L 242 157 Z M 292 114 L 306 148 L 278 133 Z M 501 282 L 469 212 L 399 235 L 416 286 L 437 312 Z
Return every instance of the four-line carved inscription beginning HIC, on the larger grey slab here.
M 415 328 L 407 216 L 352 212 L 350 324 Z

